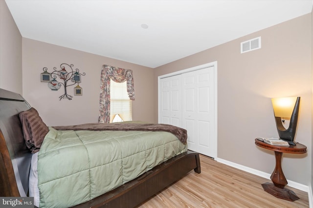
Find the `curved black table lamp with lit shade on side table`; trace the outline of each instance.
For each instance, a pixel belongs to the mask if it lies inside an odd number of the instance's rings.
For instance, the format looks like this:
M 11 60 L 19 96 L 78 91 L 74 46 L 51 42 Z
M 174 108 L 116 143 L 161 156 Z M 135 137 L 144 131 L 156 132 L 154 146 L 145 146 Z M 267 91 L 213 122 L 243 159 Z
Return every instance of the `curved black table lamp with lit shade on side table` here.
M 295 145 L 293 139 L 297 128 L 300 97 L 272 98 L 272 105 L 279 138 Z M 288 129 L 283 125 L 285 119 L 290 119 Z

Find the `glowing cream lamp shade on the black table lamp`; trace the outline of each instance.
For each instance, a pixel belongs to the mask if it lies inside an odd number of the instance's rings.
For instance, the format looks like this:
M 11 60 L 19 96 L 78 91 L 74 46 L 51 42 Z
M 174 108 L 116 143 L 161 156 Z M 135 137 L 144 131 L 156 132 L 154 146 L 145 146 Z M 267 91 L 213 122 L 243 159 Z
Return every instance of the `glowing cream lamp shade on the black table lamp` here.
M 297 97 L 272 98 L 272 105 L 275 117 L 290 118 Z

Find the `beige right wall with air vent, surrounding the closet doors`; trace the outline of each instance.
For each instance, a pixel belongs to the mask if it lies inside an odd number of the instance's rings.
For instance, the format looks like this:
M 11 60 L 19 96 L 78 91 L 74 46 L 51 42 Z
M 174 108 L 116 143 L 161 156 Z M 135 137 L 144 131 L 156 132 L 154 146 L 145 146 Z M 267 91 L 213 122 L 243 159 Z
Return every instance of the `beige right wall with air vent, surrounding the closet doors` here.
M 242 41 L 259 36 L 261 49 L 240 54 Z M 218 158 L 271 173 L 275 166 L 274 153 L 256 147 L 254 139 L 278 137 L 271 97 L 301 96 L 295 140 L 305 144 L 308 153 L 285 154 L 282 166 L 287 179 L 309 185 L 312 170 L 311 14 L 156 68 L 155 103 L 157 76 L 213 61 L 218 65 Z

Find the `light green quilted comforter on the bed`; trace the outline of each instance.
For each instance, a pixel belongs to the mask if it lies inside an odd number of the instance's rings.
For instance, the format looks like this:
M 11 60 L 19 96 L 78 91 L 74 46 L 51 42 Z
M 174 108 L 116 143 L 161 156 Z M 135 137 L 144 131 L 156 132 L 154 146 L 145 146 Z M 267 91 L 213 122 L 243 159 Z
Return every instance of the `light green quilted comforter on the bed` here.
M 169 132 L 57 131 L 38 154 L 40 207 L 89 201 L 187 151 Z

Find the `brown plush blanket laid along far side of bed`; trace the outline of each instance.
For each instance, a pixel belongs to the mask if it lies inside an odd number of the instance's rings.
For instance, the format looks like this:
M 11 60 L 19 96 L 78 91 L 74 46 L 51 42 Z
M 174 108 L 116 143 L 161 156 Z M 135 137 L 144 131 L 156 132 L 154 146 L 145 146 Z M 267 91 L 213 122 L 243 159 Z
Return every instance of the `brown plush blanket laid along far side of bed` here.
M 187 130 L 169 124 L 137 124 L 137 123 L 89 123 L 74 126 L 56 126 L 56 130 L 87 130 L 87 131 L 146 131 L 170 132 L 183 144 L 187 142 Z

